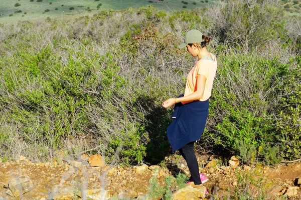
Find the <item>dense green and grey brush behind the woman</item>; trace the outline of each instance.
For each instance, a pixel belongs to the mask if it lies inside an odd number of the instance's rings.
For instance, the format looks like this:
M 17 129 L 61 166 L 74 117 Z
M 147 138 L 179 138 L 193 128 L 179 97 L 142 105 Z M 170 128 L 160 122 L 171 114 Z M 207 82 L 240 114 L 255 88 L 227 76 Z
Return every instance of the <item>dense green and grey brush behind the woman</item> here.
M 212 36 L 219 65 L 198 145 L 246 163 L 299 158 L 300 19 L 274 0 L 227 0 L 0 24 L 0 154 L 160 162 L 173 111 L 161 103 L 184 91 L 195 59 L 177 45 L 196 28 Z

